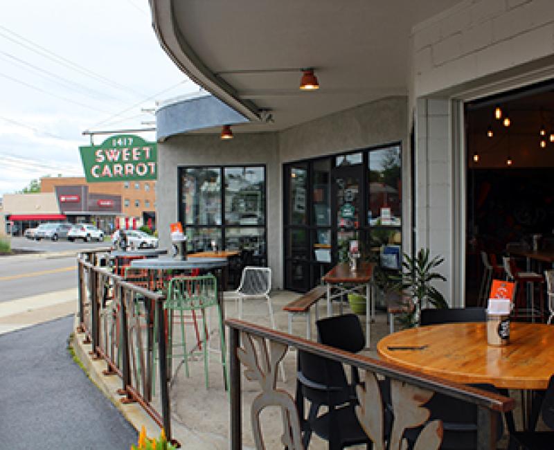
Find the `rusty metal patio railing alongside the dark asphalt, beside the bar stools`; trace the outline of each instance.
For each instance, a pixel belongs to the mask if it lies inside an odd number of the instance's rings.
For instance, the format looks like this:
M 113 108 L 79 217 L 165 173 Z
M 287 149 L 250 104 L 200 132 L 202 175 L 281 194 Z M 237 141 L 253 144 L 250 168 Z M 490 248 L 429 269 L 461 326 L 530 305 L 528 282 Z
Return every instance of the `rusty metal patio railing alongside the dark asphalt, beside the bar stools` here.
M 104 374 L 120 377 L 121 401 L 138 402 L 170 440 L 165 297 L 98 266 L 98 255 L 99 252 L 82 253 L 77 260 L 78 332 L 85 334 L 85 343 L 91 343 L 93 359 L 106 361 Z

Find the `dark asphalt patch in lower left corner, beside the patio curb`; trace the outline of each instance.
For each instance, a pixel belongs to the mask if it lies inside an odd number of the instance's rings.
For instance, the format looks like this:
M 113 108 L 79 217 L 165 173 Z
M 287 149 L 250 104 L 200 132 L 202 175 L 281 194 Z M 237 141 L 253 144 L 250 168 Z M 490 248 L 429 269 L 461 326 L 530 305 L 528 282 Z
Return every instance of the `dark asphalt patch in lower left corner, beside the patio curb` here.
M 0 448 L 129 449 L 137 434 L 71 359 L 73 317 L 0 335 Z

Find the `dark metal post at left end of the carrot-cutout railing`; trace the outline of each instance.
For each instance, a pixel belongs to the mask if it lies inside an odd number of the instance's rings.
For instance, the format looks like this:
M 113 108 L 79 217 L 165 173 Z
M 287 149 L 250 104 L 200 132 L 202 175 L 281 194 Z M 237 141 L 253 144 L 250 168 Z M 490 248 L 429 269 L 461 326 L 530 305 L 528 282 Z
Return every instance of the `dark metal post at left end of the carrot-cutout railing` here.
M 229 386 L 231 397 L 231 450 L 242 450 L 242 411 L 240 401 L 240 361 L 237 356 L 239 331 L 229 328 Z

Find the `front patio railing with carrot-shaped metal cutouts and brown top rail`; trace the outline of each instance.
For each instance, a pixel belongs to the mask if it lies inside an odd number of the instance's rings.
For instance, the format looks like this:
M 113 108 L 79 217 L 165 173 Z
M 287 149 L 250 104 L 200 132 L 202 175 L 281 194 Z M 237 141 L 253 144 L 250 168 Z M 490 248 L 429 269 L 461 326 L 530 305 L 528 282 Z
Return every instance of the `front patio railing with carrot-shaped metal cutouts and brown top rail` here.
M 440 393 L 478 408 L 477 447 L 479 450 L 496 449 L 498 413 L 511 411 L 514 402 L 508 397 L 485 392 L 469 386 L 450 383 L 443 379 L 422 375 L 377 359 L 343 352 L 327 345 L 307 341 L 300 337 L 277 332 L 266 327 L 238 320 L 228 320 L 230 345 L 231 386 L 231 449 L 242 449 L 242 390 L 241 368 L 251 381 L 258 381 L 259 395 L 251 405 L 253 441 L 257 449 L 264 449 L 263 427 L 260 414 L 266 407 L 280 408 L 283 434 L 280 442 L 289 450 L 303 450 L 301 431 L 303 417 L 299 414 L 292 396 L 277 388 L 277 367 L 289 347 L 325 357 L 332 361 L 355 366 L 365 372 L 363 385 L 357 387 L 359 406 L 356 414 L 359 423 L 373 441 L 373 449 L 400 450 L 408 448 L 403 442 L 404 430 L 421 426 L 415 449 L 436 450 L 443 438 L 440 420 L 426 422 L 429 413 L 425 403 Z M 383 435 L 384 402 L 377 375 L 388 378 L 391 390 L 393 425 L 388 442 Z M 267 436 L 266 436 L 267 437 Z M 275 438 L 275 436 L 273 436 Z

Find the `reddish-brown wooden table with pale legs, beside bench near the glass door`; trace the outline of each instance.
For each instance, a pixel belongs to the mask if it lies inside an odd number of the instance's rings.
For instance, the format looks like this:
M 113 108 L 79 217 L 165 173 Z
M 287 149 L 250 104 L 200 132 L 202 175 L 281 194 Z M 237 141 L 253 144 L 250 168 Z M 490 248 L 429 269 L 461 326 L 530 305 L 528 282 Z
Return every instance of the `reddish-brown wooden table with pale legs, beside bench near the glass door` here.
M 341 262 L 333 267 L 323 276 L 323 282 L 327 285 L 327 315 L 332 316 L 331 300 L 341 297 L 361 287 L 366 287 L 366 347 L 370 346 L 370 316 L 375 316 L 375 303 L 371 301 L 370 281 L 373 277 L 373 267 L 375 264 L 370 262 L 361 262 L 359 269 L 350 271 L 348 263 Z M 351 285 L 347 287 L 345 285 Z M 353 285 L 353 286 L 352 286 Z M 331 289 L 337 289 L 336 294 L 331 295 Z M 373 309 L 372 309 L 373 306 Z M 342 302 L 339 303 L 339 312 L 342 314 Z

